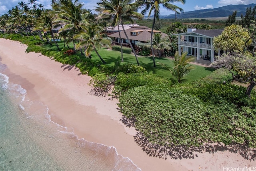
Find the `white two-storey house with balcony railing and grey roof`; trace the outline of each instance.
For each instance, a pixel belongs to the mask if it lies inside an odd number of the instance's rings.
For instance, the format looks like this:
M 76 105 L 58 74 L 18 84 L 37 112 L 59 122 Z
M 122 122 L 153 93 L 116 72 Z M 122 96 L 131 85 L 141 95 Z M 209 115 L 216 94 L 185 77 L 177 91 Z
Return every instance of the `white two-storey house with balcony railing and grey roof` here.
M 213 40 L 219 36 L 224 29 L 196 30 L 188 28 L 186 33 L 174 34 L 178 36 L 178 51 L 188 52 L 188 55 L 196 56 L 196 60 L 204 59 L 214 62 L 214 56 L 220 55 L 214 52 Z

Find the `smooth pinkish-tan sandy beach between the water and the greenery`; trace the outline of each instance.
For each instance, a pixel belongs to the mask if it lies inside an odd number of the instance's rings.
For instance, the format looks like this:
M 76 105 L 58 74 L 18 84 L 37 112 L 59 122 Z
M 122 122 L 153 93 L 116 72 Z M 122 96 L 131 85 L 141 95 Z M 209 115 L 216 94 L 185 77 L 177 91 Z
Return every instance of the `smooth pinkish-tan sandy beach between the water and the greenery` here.
M 256 170 L 255 160 L 245 159 L 240 151 L 223 146 L 212 152 L 195 152 L 194 159 L 149 156 L 134 141 L 135 129 L 120 121 L 118 99 L 92 95 L 92 87 L 88 85 L 91 78 L 82 75 L 78 68 L 42 54 L 26 53 L 26 48 L 19 42 L 0 39 L 1 64 L 8 67 L 3 74 L 27 90 L 28 100 L 47 105 L 52 121 L 73 130 L 79 139 L 116 147 L 118 154 L 131 159 L 142 171 L 228 171 L 245 167 Z

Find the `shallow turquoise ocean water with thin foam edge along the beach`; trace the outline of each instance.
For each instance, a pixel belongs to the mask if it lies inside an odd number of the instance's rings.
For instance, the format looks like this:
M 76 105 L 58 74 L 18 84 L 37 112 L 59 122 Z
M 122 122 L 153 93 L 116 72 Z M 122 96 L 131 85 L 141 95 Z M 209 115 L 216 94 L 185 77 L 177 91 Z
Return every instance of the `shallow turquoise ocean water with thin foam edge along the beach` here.
M 1 70 L 6 66 L 1 65 Z M 1 171 L 140 170 L 116 148 L 78 139 L 51 121 L 48 107 L 0 73 Z

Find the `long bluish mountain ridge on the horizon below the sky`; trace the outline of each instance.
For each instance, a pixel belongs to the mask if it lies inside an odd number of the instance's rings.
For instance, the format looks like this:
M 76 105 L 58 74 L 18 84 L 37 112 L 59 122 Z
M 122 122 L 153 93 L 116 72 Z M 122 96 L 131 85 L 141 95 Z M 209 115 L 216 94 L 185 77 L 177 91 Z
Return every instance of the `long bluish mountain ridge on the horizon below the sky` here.
M 217 18 L 217 17 L 228 17 L 233 14 L 236 10 L 237 17 L 240 17 L 241 14 L 245 16 L 246 8 L 248 7 L 254 8 L 256 4 L 249 4 L 249 5 L 228 5 L 222 6 L 219 8 L 213 9 L 206 9 L 206 10 L 195 10 L 195 11 L 188 11 L 177 14 L 177 18 L 184 19 L 184 18 Z M 153 16 L 152 16 L 153 17 Z M 160 18 L 175 18 L 175 14 L 170 14 L 168 16 L 160 16 Z

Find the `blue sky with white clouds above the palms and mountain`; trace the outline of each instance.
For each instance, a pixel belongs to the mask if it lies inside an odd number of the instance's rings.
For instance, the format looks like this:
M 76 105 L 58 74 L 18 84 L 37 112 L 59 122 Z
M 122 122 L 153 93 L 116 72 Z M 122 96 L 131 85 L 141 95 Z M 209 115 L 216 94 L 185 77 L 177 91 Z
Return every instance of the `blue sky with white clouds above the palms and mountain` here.
M 6 14 L 8 10 L 11 10 L 12 7 L 15 7 L 18 5 L 18 2 L 25 2 L 29 3 L 28 0 L 0 0 L 0 15 Z M 73 0 L 74 1 L 74 0 Z M 98 0 L 79 0 L 82 4 L 84 4 L 84 8 L 92 10 L 92 13 L 94 12 L 94 7 L 97 6 Z M 50 0 L 37 0 L 37 4 L 44 5 L 44 8 L 51 9 L 51 2 Z M 252 4 L 256 3 L 256 0 L 186 0 L 185 4 L 181 3 L 175 3 L 176 6 L 182 8 L 184 12 L 187 11 L 194 11 L 194 10 L 203 10 L 203 9 L 209 9 L 209 8 L 218 8 L 221 6 L 227 6 L 227 5 L 238 5 L 238 4 Z M 31 4 L 28 4 L 28 6 L 31 8 Z M 139 11 L 140 12 L 140 11 Z M 160 8 L 160 15 L 170 15 L 174 14 L 174 12 L 168 11 L 164 8 Z

